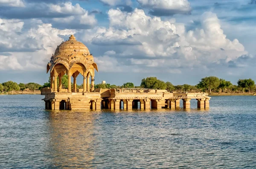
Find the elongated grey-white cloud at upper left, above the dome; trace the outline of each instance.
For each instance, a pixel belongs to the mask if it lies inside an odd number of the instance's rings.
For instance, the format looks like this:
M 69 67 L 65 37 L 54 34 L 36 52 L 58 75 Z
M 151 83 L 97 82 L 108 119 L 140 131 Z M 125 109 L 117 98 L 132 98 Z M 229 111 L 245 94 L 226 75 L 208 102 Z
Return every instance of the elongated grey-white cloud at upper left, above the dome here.
M 61 29 L 90 29 L 97 23 L 94 14 L 71 2 L 28 3 L 25 8 L 0 8 L 0 16 L 8 19 L 40 18 Z

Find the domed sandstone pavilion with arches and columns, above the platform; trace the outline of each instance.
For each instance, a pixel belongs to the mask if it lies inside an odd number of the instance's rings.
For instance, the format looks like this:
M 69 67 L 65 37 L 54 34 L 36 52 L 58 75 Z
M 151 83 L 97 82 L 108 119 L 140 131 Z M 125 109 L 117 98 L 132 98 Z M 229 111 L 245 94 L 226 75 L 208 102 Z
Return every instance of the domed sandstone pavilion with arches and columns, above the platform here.
M 83 76 L 83 91 L 81 92 L 91 92 L 94 90 L 95 69 L 98 71 L 93 55 L 83 43 L 71 35 L 69 40 L 57 47 L 47 64 L 47 73 L 50 72 L 51 77 L 51 91 L 79 92 L 79 89 L 76 89 L 76 77 L 81 74 Z M 68 76 L 68 89 L 62 89 L 61 78 L 64 74 Z M 73 77 L 73 89 L 71 76 Z M 57 77 L 59 82 L 57 82 Z

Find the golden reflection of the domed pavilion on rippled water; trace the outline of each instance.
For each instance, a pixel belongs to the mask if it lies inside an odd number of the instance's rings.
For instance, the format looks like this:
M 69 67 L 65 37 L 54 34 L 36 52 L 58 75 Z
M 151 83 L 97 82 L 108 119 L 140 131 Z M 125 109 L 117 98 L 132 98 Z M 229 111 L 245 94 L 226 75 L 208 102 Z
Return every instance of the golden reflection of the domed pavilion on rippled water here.
M 92 165 L 93 114 L 52 111 L 49 113 L 49 152 L 57 167 L 89 168 Z

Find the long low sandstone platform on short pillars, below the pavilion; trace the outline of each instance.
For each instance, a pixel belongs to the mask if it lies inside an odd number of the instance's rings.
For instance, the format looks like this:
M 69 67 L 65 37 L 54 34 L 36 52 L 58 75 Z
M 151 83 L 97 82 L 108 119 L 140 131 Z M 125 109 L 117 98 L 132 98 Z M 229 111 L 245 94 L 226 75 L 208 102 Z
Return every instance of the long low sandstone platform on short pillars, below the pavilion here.
M 81 90 L 82 91 L 82 90 Z M 100 109 L 175 109 L 180 107 L 183 100 L 183 108 L 190 109 L 190 100 L 198 100 L 198 108 L 209 108 L 209 100 L 206 93 L 170 93 L 166 90 L 154 89 L 95 89 L 92 92 L 52 92 L 51 89 L 42 89 L 45 109 L 67 110 L 100 110 Z

